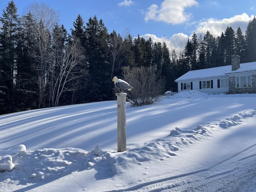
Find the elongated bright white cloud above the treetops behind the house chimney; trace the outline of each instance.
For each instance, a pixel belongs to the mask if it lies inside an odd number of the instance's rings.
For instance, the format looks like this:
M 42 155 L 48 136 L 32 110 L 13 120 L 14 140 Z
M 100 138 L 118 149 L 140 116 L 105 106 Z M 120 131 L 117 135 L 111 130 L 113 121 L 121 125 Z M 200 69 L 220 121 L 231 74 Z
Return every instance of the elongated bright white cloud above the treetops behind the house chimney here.
M 216 20 L 213 18 L 210 18 L 204 22 L 200 22 L 198 26 L 196 27 L 196 34 L 199 36 L 209 31 L 210 34 L 217 37 L 220 36 L 222 32 L 224 32 L 227 28 L 227 26 L 232 27 L 234 31 L 237 30 L 238 27 L 242 29 L 243 32 L 245 32 L 248 23 L 254 18 L 254 15 L 249 17 L 246 13 L 243 13 L 241 15 L 236 15 L 231 18 L 224 18 L 222 20 Z

